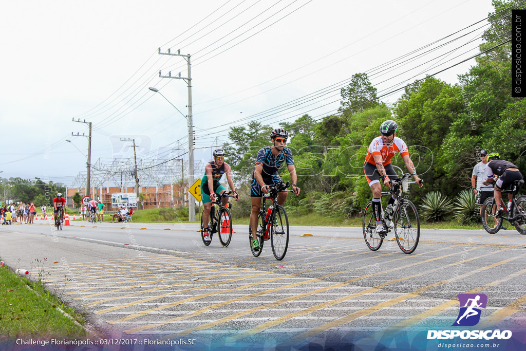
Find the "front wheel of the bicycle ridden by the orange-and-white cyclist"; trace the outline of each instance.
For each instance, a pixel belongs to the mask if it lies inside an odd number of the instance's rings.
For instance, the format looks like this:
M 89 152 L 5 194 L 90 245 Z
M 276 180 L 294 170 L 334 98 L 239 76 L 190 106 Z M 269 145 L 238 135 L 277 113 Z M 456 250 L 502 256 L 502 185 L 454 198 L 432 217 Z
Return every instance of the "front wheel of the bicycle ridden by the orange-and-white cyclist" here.
M 420 219 L 417 208 L 409 200 L 402 200 L 393 214 L 393 220 L 398 246 L 404 254 L 411 254 L 417 248 L 420 239 Z

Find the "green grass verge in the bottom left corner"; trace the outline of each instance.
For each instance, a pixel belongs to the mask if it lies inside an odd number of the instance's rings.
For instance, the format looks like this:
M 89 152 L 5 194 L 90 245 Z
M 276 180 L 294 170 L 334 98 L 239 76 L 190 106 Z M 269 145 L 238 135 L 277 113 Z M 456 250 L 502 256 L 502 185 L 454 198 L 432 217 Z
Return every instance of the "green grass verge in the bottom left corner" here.
M 89 336 L 82 326 L 65 316 L 59 308 L 81 325 L 85 323 L 84 317 L 63 305 L 40 282 L 17 276 L 7 267 L 0 267 L 0 282 L 0 340 L 29 337 L 77 339 Z

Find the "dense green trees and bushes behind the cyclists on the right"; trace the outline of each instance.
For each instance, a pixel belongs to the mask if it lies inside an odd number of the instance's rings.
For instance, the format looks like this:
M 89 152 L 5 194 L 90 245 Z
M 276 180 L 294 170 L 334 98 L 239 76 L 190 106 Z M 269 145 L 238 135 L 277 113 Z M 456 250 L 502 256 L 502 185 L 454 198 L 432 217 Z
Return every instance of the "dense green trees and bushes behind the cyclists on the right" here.
M 495 13 L 512 4 L 493 1 Z M 511 9 L 506 16 L 495 17 L 489 19 L 490 27 L 482 36 L 481 52 L 511 38 Z M 481 149 L 499 152 L 524 171 L 526 99 L 511 97 L 510 72 L 511 44 L 507 43 L 476 57 L 469 71 L 458 76 L 459 83 L 428 76 L 406 87 L 392 105 L 379 101 L 367 74 L 354 74 L 341 89 L 337 114 L 320 121 L 305 114 L 292 123 L 280 123 L 290 134 L 287 147 L 294 155 L 301 188 L 299 197 L 288 197 L 288 210 L 326 216 L 358 214 L 371 198 L 363 176 L 367 148 L 386 119 L 397 121 L 397 136 L 408 145 L 424 179 L 423 188 L 411 188 L 416 203 L 433 190 L 454 199 L 471 188 L 471 172 L 480 162 Z M 256 154 L 270 145 L 269 134 L 275 127 L 252 121 L 230 128 L 225 161 L 245 197 Z M 392 163 L 407 172 L 399 155 Z M 288 180 L 288 172 L 281 176 Z M 233 212 L 248 216 L 250 200 L 246 201 Z

